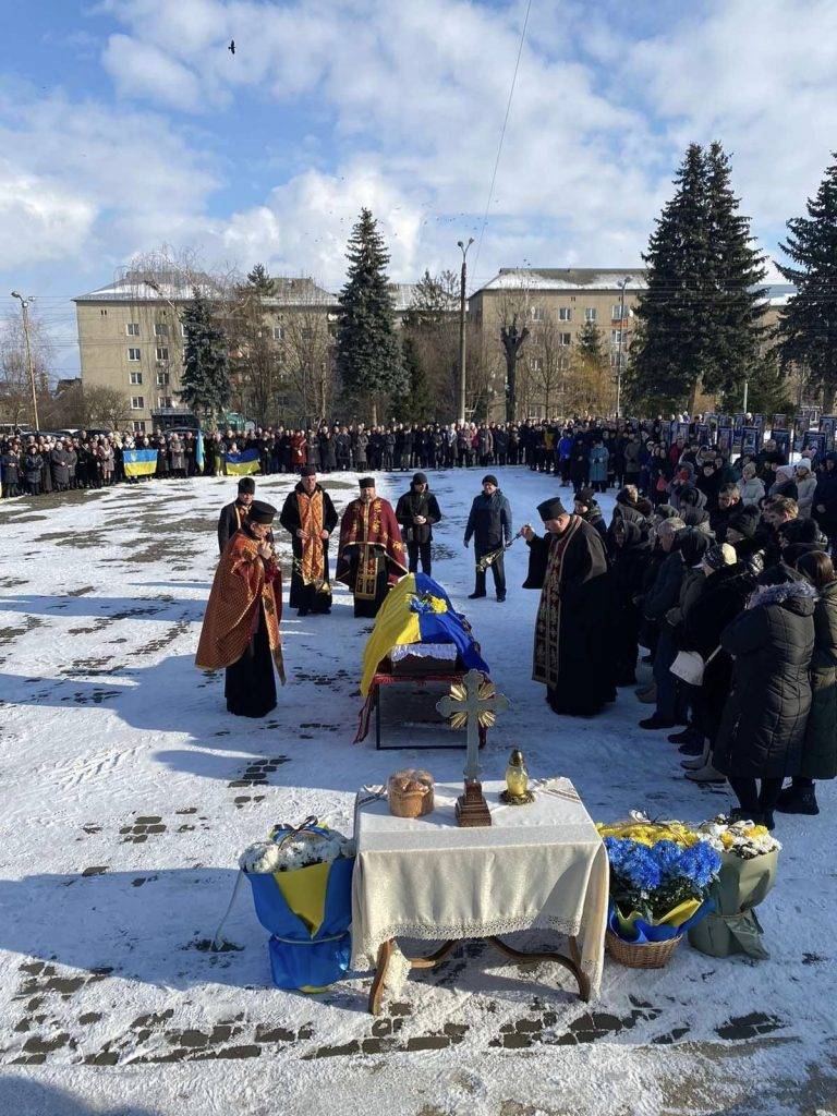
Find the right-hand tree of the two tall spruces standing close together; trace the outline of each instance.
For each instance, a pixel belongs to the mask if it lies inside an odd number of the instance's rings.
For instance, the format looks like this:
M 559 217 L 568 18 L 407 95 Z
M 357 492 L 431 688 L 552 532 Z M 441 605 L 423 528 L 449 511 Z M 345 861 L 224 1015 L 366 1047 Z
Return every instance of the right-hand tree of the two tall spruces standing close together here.
M 740 201 L 730 184 L 730 160 L 719 143 L 706 155 L 709 193 L 709 268 L 714 272 L 711 352 L 704 363 L 704 391 L 742 395 L 744 379 L 759 378 L 763 356 L 767 290 L 764 257 L 753 246 L 750 219 L 739 213 Z M 761 377 L 767 384 L 767 369 Z M 740 398 L 734 410 L 742 404 Z M 751 408 L 752 410 L 752 408 Z

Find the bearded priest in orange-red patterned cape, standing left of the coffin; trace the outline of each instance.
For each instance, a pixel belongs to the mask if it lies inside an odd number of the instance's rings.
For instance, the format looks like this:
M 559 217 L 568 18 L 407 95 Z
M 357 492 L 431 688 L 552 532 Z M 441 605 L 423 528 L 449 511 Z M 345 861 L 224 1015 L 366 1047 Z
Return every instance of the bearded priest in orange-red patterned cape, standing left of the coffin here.
M 285 684 L 279 620 L 282 579 L 268 541 L 276 508 L 253 500 L 215 570 L 195 665 L 227 671 L 227 709 L 266 716 L 276 709 L 273 666 Z

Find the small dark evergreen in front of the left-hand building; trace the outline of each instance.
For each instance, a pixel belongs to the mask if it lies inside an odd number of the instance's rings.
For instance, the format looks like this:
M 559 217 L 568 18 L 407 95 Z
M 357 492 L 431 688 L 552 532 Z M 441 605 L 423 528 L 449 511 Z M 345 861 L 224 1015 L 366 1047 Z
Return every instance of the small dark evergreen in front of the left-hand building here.
M 205 423 L 213 423 L 230 402 L 229 344 L 209 300 L 195 287 L 181 315 L 183 375 L 180 397 Z

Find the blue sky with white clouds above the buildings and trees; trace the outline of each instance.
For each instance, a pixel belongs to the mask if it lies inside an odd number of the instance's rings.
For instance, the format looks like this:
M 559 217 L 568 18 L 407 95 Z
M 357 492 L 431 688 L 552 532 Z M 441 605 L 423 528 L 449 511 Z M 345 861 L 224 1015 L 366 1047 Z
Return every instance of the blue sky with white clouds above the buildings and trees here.
M 0 315 L 35 296 L 60 374 L 69 298 L 164 242 L 338 287 L 363 204 L 395 279 L 479 237 L 525 2 L 2 7 Z M 475 281 L 635 264 L 692 140 L 732 154 L 776 254 L 837 147 L 836 95 L 833 0 L 532 0 Z

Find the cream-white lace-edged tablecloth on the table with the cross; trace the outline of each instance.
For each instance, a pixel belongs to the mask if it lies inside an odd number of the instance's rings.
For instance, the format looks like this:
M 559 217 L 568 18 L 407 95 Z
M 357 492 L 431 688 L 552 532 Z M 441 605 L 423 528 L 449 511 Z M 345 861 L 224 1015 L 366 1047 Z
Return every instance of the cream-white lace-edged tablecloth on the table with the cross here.
M 353 968 L 369 969 L 392 937 L 443 941 L 520 930 L 577 936 L 598 992 L 607 920 L 607 854 L 568 779 L 504 806 L 504 782 L 483 783 L 491 826 L 460 828 L 462 783 L 437 783 L 426 818 L 396 818 L 385 800 L 356 810 Z

